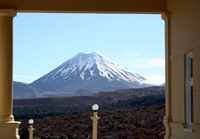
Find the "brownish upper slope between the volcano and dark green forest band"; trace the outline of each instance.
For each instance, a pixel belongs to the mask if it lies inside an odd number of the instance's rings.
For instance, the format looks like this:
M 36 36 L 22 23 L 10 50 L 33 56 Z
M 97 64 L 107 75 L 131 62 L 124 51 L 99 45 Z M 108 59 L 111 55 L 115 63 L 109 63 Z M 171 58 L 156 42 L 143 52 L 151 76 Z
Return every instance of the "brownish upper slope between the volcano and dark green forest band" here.
M 114 103 L 119 100 L 127 100 L 135 97 L 149 95 L 164 95 L 164 87 L 148 87 L 140 89 L 121 89 L 109 92 L 100 92 L 93 96 L 75 96 L 75 97 L 55 97 L 55 98 L 38 98 L 38 99 L 18 99 L 14 100 L 14 106 L 78 106 Z

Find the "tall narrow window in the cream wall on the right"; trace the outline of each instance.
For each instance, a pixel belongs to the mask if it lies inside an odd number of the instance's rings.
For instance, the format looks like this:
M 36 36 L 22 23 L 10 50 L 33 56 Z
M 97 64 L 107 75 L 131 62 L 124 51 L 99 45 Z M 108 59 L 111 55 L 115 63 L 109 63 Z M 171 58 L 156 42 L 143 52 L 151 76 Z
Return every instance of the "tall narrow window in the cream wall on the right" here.
M 192 52 L 185 56 L 185 102 L 186 125 L 191 128 L 193 124 L 193 57 Z

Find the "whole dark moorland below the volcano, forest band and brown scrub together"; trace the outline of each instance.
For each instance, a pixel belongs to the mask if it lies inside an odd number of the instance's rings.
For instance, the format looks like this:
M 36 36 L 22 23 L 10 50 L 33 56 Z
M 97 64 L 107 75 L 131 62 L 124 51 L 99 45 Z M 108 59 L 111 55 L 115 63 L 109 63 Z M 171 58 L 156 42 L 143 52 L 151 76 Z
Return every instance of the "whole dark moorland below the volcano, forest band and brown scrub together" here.
M 21 139 L 28 139 L 28 119 L 35 120 L 35 139 L 91 139 L 91 106 L 98 103 L 98 139 L 163 139 L 163 89 L 153 87 L 150 90 L 101 92 L 85 97 L 17 100 L 14 101 L 14 115 L 17 121 L 22 122 Z M 90 102 L 93 97 L 96 99 Z

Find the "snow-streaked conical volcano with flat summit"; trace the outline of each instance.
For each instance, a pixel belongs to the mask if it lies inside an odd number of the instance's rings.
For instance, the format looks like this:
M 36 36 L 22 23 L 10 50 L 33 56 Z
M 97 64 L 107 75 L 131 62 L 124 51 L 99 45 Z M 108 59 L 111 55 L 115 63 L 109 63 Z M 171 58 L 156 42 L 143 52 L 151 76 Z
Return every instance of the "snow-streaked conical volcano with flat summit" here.
M 142 76 L 98 52 L 82 52 L 30 85 L 63 94 L 148 86 Z

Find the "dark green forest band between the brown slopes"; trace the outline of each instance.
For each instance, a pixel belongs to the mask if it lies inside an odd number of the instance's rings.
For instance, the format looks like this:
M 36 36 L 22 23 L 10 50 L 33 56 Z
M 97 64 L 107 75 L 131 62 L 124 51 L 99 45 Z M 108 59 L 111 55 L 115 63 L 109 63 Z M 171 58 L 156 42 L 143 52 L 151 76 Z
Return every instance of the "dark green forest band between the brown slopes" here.
M 130 109 L 141 106 L 152 106 L 165 104 L 164 95 L 145 96 L 141 98 L 118 101 L 111 104 L 100 104 L 100 112 Z M 36 106 L 36 107 L 14 107 L 16 119 L 40 119 L 49 116 L 69 116 L 91 113 L 91 106 Z

